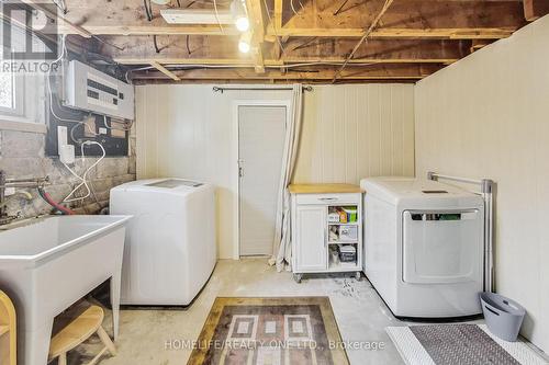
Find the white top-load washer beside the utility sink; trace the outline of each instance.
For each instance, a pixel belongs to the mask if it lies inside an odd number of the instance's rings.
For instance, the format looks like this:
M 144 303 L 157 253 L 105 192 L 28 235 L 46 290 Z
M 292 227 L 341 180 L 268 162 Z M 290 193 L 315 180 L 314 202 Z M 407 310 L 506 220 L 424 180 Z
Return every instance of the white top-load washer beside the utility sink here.
M 187 306 L 216 262 L 214 187 L 183 179 L 111 190 L 110 212 L 126 227 L 121 304 Z

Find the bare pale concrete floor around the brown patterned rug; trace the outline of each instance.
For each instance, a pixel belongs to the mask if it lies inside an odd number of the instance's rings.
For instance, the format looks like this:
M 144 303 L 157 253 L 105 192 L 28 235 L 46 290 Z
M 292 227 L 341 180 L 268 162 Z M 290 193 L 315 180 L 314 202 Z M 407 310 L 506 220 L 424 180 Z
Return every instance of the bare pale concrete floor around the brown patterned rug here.
M 291 273 L 277 273 L 266 259 L 248 259 L 220 261 L 210 282 L 187 309 L 122 310 L 116 342 L 119 354 L 115 357 L 104 355 L 101 365 L 186 364 L 191 350 L 169 349 L 169 345 L 178 346 L 179 340 L 198 339 L 217 296 L 329 296 L 344 342 L 373 342 L 383 346 L 376 351 L 347 350 L 351 364 L 403 364 L 384 328 L 406 323 L 391 315 L 366 278 L 305 276 L 296 284 Z M 104 328 L 112 333 L 109 313 Z M 92 337 L 69 353 L 69 364 L 89 361 L 98 349 L 98 340 Z

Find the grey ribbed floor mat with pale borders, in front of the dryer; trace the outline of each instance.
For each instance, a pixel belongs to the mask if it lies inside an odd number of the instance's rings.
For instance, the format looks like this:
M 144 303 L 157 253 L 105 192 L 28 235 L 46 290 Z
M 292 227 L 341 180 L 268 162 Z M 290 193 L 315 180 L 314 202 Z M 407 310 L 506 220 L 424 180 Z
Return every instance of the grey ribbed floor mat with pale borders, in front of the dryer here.
M 548 364 L 525 342 L 500 340 L 485 324 L 388 327 L 408 365 Z

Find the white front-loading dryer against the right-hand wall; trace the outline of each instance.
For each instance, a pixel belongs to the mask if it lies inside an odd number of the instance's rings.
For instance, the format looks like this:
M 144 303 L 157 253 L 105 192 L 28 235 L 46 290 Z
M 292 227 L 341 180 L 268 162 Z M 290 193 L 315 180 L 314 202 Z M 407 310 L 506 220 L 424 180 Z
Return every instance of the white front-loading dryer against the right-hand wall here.
M 481 312 L 484 201 L 430 180 L 363 179 L 363 270 L 396 317 Z

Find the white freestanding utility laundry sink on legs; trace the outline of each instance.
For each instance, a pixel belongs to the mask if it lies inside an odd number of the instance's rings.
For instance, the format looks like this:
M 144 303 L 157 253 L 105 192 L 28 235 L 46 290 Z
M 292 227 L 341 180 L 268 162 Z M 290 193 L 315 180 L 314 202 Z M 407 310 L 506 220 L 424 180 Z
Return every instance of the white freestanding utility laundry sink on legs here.
M 0 289 L 15 305 L 18 364 L 47 363 L 54 317 L 111 278 L 114 338 L 131 216 L 49 216 L 0 231 Z

